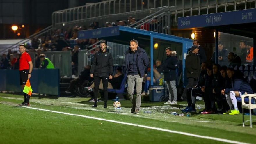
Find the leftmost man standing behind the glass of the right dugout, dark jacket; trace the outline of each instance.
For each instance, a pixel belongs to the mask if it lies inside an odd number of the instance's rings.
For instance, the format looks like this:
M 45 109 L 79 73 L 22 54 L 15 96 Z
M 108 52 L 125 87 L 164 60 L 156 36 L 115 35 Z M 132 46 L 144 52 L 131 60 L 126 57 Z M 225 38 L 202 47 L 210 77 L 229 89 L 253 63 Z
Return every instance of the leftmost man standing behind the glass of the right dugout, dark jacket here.
M 223 66 L 228 66 L 228 60 L 227 60 L 227 55 L 229 53 L 229 51 L 227 49 L 223 48 L 223 43 L 222 42 L 218 42 L 218 63 Z M 215 63 L 215 52 L 213 53 L 212 57 L 211 57 L 211 61 L 213 61 Z

